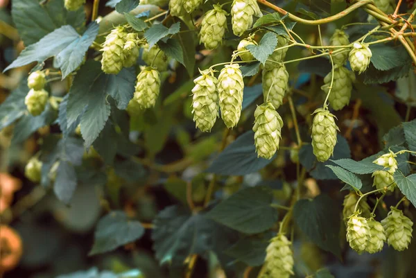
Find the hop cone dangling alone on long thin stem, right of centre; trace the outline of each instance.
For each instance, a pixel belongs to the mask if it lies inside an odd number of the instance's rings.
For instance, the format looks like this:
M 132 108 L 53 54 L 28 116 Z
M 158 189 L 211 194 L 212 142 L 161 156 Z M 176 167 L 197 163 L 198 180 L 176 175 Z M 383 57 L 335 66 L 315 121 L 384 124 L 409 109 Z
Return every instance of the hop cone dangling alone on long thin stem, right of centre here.
M 328 110 L 318 108 L 313 114 L 315 114 L 311 135 L 313 154 L 319 162 L 326 162 L 333 153 L 336 132 L 339 129 L 334 120 L 335 116 Z

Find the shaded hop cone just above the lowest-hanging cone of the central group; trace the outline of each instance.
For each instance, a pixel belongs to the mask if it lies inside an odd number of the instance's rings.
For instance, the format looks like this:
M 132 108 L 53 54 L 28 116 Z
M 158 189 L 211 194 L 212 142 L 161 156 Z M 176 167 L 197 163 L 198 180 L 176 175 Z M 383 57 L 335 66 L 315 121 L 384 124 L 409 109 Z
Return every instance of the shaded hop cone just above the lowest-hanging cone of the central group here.
M 283 103 L 284 94 L 288 89 L 289 74 L 284 64 L 270 70 L 263 70 L 263 100 L 271 101 L 277 109 Z

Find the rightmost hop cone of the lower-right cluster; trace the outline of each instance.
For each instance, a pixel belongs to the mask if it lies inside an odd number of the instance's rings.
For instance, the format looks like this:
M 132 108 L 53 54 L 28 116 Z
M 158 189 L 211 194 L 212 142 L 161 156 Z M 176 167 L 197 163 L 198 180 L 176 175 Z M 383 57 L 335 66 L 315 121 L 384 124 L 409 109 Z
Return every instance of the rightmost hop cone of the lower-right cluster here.
M 406 216 L 403 211 L 390 207 L 390 211 L 381 224 L 385 229 L 387 243 L 397 251 L 406 250 L 412 240 L 413 222 Z

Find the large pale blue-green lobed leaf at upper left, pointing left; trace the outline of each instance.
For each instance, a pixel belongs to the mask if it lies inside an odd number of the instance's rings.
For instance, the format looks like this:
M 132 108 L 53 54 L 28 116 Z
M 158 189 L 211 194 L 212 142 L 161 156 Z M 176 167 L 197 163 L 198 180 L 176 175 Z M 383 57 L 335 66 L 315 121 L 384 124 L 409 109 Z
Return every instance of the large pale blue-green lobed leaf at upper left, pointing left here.
M 62 78 L 65 78 L 83 62 L 85 52 L 94 42 L 97 34 L 98 24 L 95 22 L 89 25 L 82 37 L 73 27 L 62 26 L 42 37 L 39 42 L 26 47 L 21 51 L 19 57 L 6 67 L 5 71 L 35 61 L 42 63 L 55 56 L 58 67 L 62 70 Z

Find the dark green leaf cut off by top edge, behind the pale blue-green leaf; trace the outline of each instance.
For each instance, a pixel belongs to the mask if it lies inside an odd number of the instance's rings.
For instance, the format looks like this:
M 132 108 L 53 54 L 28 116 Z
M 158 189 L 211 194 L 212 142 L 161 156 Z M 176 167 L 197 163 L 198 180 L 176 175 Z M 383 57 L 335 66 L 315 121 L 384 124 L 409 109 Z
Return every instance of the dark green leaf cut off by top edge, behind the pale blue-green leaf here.
M 13 0 L 12 17 L 17 31 L 26 46 L 34 44 L 55 29 L 70 25 L 83 31 L 85 11 L 69 12 L 62 0 Z

